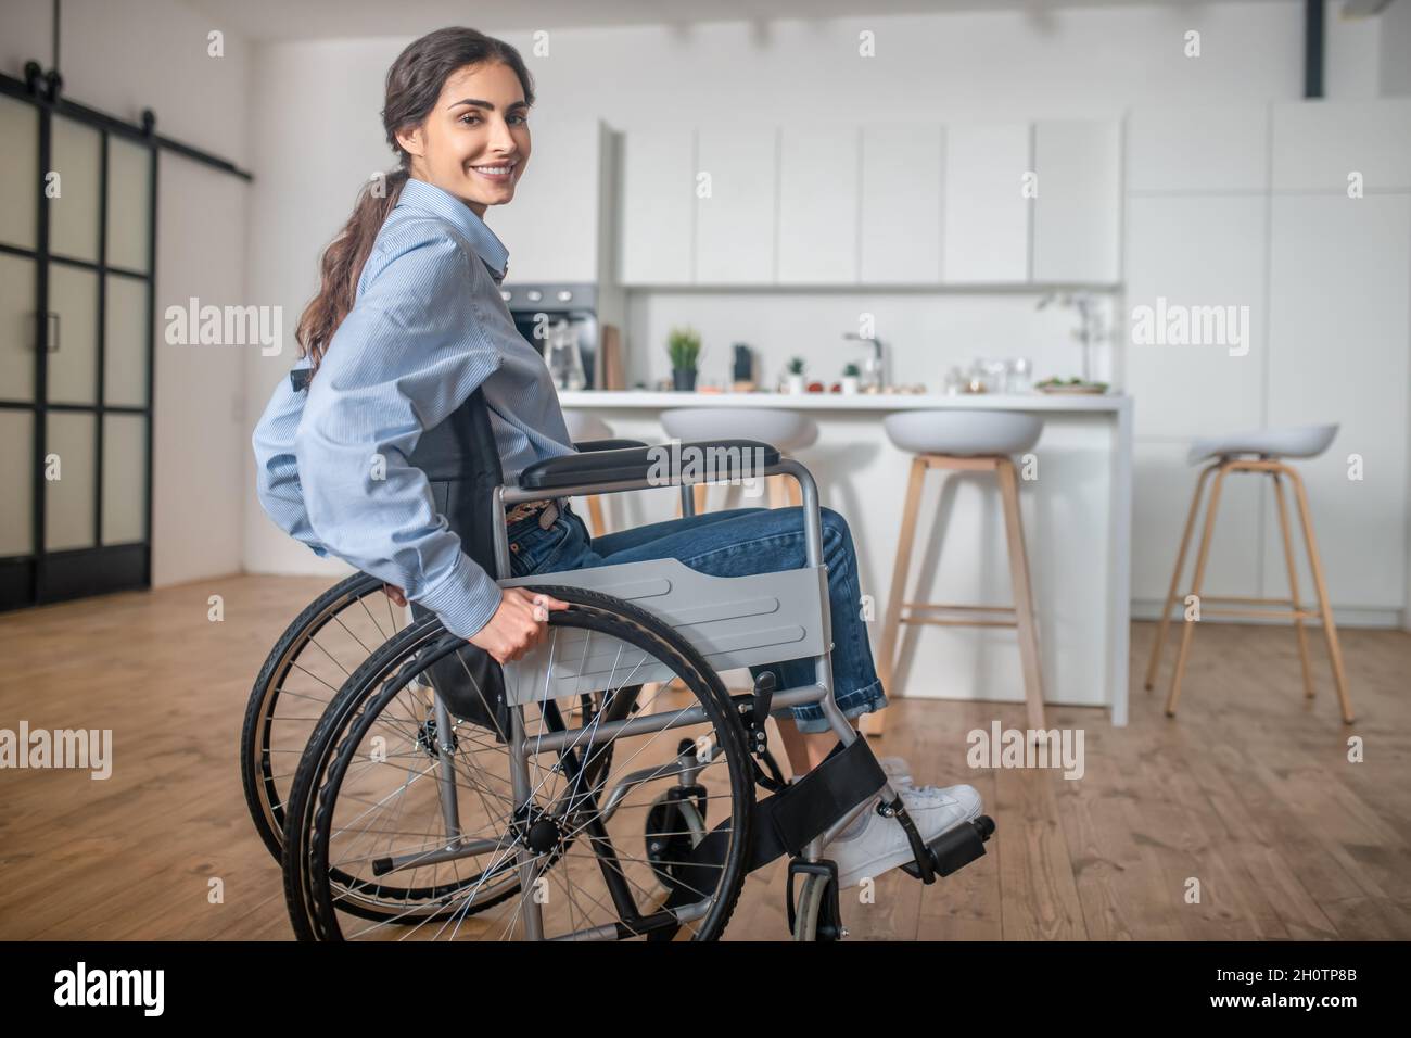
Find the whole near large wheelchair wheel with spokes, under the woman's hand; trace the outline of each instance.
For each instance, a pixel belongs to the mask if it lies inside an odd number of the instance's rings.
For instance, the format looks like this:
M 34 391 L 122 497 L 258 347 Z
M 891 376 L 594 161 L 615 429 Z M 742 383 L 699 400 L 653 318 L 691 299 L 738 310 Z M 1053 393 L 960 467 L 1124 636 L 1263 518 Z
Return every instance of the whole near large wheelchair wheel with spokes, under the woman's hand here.
M 711 939 L 725 928 L 745 876 L 753 777 L 720 678 L 636 606 L 580 587 L 531 590 L 570 609 L 550 613 L 532 654 L 552 695 L 529 686 L 528 660 L 505 668 L 518 705 L 504 740 L 464 722 L 437 734 L 444 709 L 419 676 L 464 641 L 435 619 L 378 650 L 329 705 L 285 821 L 299 938 Z M 673 788 L 717 822 L 706 861 L 642 853 Z

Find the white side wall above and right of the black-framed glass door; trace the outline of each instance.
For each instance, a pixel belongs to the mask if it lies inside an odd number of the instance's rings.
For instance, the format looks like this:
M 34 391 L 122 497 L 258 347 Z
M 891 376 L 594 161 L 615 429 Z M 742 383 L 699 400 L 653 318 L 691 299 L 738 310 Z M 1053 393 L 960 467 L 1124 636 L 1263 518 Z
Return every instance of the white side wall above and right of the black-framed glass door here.
M 0 71 L 49 68 L 49 0 L 0 4 Z M 164 136 L 247 164 L 250 58 L 224 38 L 207 55 L 212 20 L 175 0 L 65 0 L 63 96 L 124 120 L 157 113 Z M 244 473 L 250 466 L 241 347 L 166 346 L 162 312 L 196 295 L 246 297 L 243 181 L 162 153 L 158 172 L 157 388 L 154 398 L 152 583 L 237 572 Z

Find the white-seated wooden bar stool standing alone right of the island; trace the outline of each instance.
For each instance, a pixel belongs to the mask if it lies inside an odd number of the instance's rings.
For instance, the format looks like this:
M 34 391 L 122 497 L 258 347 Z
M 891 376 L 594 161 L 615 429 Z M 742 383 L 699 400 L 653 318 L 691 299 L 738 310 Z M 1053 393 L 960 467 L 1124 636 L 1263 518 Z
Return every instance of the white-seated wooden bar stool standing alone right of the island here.
M 1318 541 L 1314 537 L 1312 515 L 1308 511 L 1308 494 L 1304 482 L 1294 469 L 1284 465 L 1281 458 L 1316 458 L 1332 443 L 1338 435 L 1336 425 L 1300 425 L 1277 429 L 1260 429 L 1254 432 L 1236 432 L 1215 439 L 1198 439 L 1191 445 L 1187 460 L 1191 465 L 1213 458 L 1205 466 L 1201 477 L 1195 483 L 1195 496 L 1191 499 L 1191 511 L 1185 518 L 1185 532 L 1181 534 L 1181 548 L 1175 555 L 1175 571 L 1171 573 L 1171 590 L 1165 596 L 1165 609 L 1161 610 L 1161 623 L 1156 628 L 1156 645 L 1151 648 L 1151 661 L 1147 664 L 1146 688 L 1151 691 L 1156 685 L 1157 667 L 1161 661 L 1161 648 L 1165 645 L 1165 633 L 1171 626 L 1171 606 L 1177 599 L 1177 587 L 1181 583 L 1181 571 L 1185 568 L 1185 549 L 1191 542 L 1191 530 L 1195 527 L 1195 515 L 1201 507 L 1201 494 L 1205 490 L 1205 480 L 1215 473 L 1215 483 L 1211 487 L 1211 503 L 1205 511 L 1205 530 L 1201 534 L 1201 549 L 1195 556 L 1195 578 L 1189 593 L 1199 603 L 1201 616 L 1240 616 L 1240 617 L 1285 617 L 1294 621 L 1298 633 L 1298 655 L 1304 669 L 1304 696 L 1312 699 L 1314 682 L 1308 664 L 1308 636 L 1304 631 L 1304 620 L 1322 619 L 1324 634 L 1328 638 L 1328 658 L 1332 662 L 1333 685 L 1338 689 L 1338 703 L 1342 708 L 1342 719 L 1348 724 L 1353 722 L 1352 699 L 1348 695 L 1348 678 L 1342 668 L 1342 648 L 1338 644 L 1338 627 L 1332 619 L 1332 604 L 1328 602 L 1328 589 L 1324 585 L 1322 559 L 1318 555 Z M 1254 455 L 1254 458 L 1242 458 Z M 1215 531 L 1215 510 L 1221 503 L 1221 487 L 1225 476 L 1232 472 L 1264 473 L 1274 482 L 1274 497 L 1278 501 L 1278 527 L 1284 539 L 1284 565 L 1288 566 L 1288 597 L 1287 599 L 1252 599 L 1252 597 L 1216 597 L 1201 595 L 1205 580 L 1205 563 L 1211 554 L 1211 534 Z M 1298 499 L 1298 518 L 1304 530 L 1304 544 L 1308 548 L 1308 565 L 1312 569 L 1314 587 L 1318 592 L 1318 612 L 1305 609 L 1300 603 L 1298 573 L 1294 568 L 1294 541 L 1288 530 L 1288 503 L 1284 500 L 1283 479 L 1287 477 Z M 1182 599 L 1184 600 L 1184 599 Z M 1205 609 L 1206 602 L 1230 602 L 1242 606 L 1290 606 L 1288 612 L 1268 609 Z M 1165 716 L 1175 716 L 1175 705 L 1181 699 L 1181 679 L 1185 676 L 1185 657 L 1191 648 L 1191 637 L 1195 634 L 1195 621 L 1187 621 L 1181 630 L 1181 647 L 1175 655 L 1175 671 L 1171 674 L 1171 691 L 1165 698 Z

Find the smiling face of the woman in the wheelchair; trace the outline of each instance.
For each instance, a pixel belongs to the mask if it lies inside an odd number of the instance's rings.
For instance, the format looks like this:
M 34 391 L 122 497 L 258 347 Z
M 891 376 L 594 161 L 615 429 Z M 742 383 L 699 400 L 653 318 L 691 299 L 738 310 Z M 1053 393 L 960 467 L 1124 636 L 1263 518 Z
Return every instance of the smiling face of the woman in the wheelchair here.
M 529 106 L 519 76 L 501 62 L 453 72 L 419 127 L 396 137 L 412 177 L 456 195 L 484 217 L 515 196 L 529 162 Z

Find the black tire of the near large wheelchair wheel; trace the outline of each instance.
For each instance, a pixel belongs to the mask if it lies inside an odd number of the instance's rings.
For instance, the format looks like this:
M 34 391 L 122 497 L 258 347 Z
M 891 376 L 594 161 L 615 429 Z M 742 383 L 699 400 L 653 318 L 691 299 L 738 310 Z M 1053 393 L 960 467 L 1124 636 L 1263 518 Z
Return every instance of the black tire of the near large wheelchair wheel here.
M 710 894 L 700 900 L 698 905 L 703 905 L 703 908 L 700 908 L 701 917 L 684 924 L 684 926 L 689 928 L 690 935 L 694 939 L 713 939 L 718 936 L 720 932 L 724 931 L 725 924 L 734 911 L 735 902 L 739 897 L 739 888 L 744 884 L 745 857 L 749 846 L 748 826 L 753 806 L 753 778 L 749 768 L 744 727 L 738 715 L 732 709 L 729 696 L 721 685 L 718 675 L 715 675 L 710 665 L 682 636 L 652 614 L 628 602 L 581 587 L 535 586 L 529 590 L 546 592 L 570 603 L 570 609 L 550 613 L 550 628 L 579 628 L 587 633 L 584 638 L 591 638 L 593 633 L 597 631 L 617 638 L 626 645 L 635 647 L 638 651 L 648 654 L 653 661 L 662 664 L 670 672 L 672 679 L 666 682 L 666 688 L 673 689 L 673 695 L 682 695 L 687 702 L 700 705 L 706 717 L 706 720 L 700 723 L 708 727 L 711 737 L 715 740 L 715 756 L 711 760 L 711 764 L 724 763 L 725 765 L 722 770 L 717 768 L 714 775 L 718 777 L 721 784 L 728 781 L 728 798 L 731 804 L 727 815 L 731 825 L 727 829 L 728 847 L 725 852 L 725 860 L 720 863 L 720 866 L 713 866 L 718 869 L 718 871 L 714 873 L 717 877 L 717 885 Z M 389 708 L 398 696 L 411 686 L 411 681 L 416 672 L 430 667 L 440 657 L 453 652 L 460 644 L 463 643 L 446 634 L 440 621 L 435 617 L 418 621 L 378 650 L 374 657 L 358 668 L 358 671 L 349 679 L 334 700 L 329 705 L 327 712 L 320 720 L 315 737 L 310 740 L 309 748 L 299 763 L 285 823 L 285 895 L 291 922 L 293 924 L 295 933 L 301 939 L 344 939 L 346 933 L 343 932 L 339 921 L 340 912 L 360 918 L 377 918 L 363 915 L 356 909 L 356 907 L 347 902 L 346 897 L 339 897 L 340 884 L 344 893 L 349 890 L 357 893 L 360 890 L 370 890 L 370 881 L 347 874 L 340 877 L 337 870 L 330 870 L 329 866 L 330 833 L 340 836 L 347 832 L 346 825 L 337 828 L 334 832 L 334 815 L 337 812 L 339 794 L 344 778 L 349 774 L 349 768 L 354 763 L 357 763 L 361 772 L 360 778 L 363 775 L 374 774 L 367 772 L 365 768 L 370 764 L 378 763 L 377 758 L 364 757 L 361 763 L 358 763 L 357 750 L 367 733 L 375 723 L 378 723 L 378 717 L 382 710 Z M 680 681 L 679 688 L 676 685 L 677 679 Z M 624 684 L 624 688 L 628 686 Z M 631 688 L 639 689 L 641 686 Z M 610 705 L 618 702 L 612 693 L 604 695 L 607 696 Z M 528 708 L 514 709 L 528 710 Z M 388 722 L 391 727 L 395 729 L 398 724 L 408 724 L 408 716 L 404 712 L 395 710 L 391 716 L 392 720 Z M 625 712 L 612 710 L 611 716 L 605 715 L 604 719 L 612 720 L 621 716 L 625 716 Z M 545 713 L 545 719 L 552 720 L 547 713 Z M 415 720 L 415 716 L 411 717 L 411 720 Z M 631 739 L 635 736 L 626 737 Z M 650 737 L 655 739 L 655 734 Z M 617 741 L 618 739 L 614 737 L 600 748 L 611 748 Z M 625 748 L 631 750 L 631 747 Z M 571 748 L 569 753 L 571 754 Z M 641 753 L 641 750 L 628 753 L 628 764 L 631 764 L 638 753 Z M 560 753 L 560 761 L 563 760 L 564 754 Z M 535 801 L 536 811 L 545 816 L 553 818 L 556 822 L 564 823 L 564 829 L 567 829 L 569 825 L 577 826 L 559 836 L 560 842 L 555 845 L 552 850 L 540 850 L 538 853 L 538 857 L 545 859 L 545 861 L 538 866 L 540 877 L 550 874 L 555 866 L 570 854 L 570 846 L 574 839 L 573 833 L 581 832 L 587 828 L 587 823 L 581 822 L 583 815 L 588 815 L 590 821 L 597 819 L 597 825 L 602 826 L 602 822 L 612 813 L 611 811 L 608 812 L 608 816 L 595 813 L 601 806 L 598 802 L 598 791 L 605 788 L 607 780 L 610 778 L 607 770 L 611 767 L 611 758 L 607 753 L 594 750 L 588 753 L 588 761 L 590 764 L 601 761 L 601 774 L 595 775 L 588 782 L 588 797 L 577 795 L 570 798 L 574 806 L 564 809 L 573 809 L 576 812 L 571 818 L 569 815 L 560 816 L 555 813 L 557 808 L 563 806 L 563 801 L 555 801 L 547 811 L 543 811 L 539 802 Z M 454 764 L 450 764 L 449 767 L 452 767 L 454 772 Z M 650 768 L 648 770 L 650 771 Z M 550 771 L 557 771 L 557 767 Z M 459 775 L 459 772 L 454 774 Z M 653 778 L 656 772 L 653 771 Z M 406 789 L 411 781 L 413 780 L 404 782 L 402 791 Z M 638 784 L 645 785 L 645 781 L 646 780 L 638 780 L 638 782 L 629 785 L 635 789 Z M 626 797 L 629 795 L 631 792 L 626 794 Z M 481 799 L 484 801 L 484 798 Z M 621 799 L 625 801 L 625 797 Z M 365 798 L 354 797 L 354 806 L 349 808 L 349 811 L 358 811 L 358 806 L 365 802 Z M 584 804 L 588 804 L 590 806 L 584 808 Z M 635 808 L 638 805 L 632 806 Z M 618 809 L 618 805 L 615 805 L 614 809 Z M 394 815 L 394 818 L 398 822 L 402 822 L 401 806 L 398 806 L 396 811 L 398 813 Z M 363 813 L 367 813 L 367 811 L 364 809 Z M 639 821 L 635 823 L 641 825 Z M 626 825 L 626 822 L 624 822 L 624 825 Z M 405 825 L 405 828 L 413 832 L 419 830 L 415 819 Z M 518 843 L 518 837 L 507 845 L 504 843 L 504 832 L 508 832 L 508 829 L 498 836 L 494 835 L 494 826 L 484 826 L 481 829 L 491 833 L 490 839 L 501 840 L 501 846 L 507 847 L 505 853 L 502 853 L 492 866 L 483 867 L 478 877 L 461 881 L 459 878 L 457 869 L 456 883 L 442 883 L 439 885 L 423 888 L 405 888 L 411 894 L 419 895 L 426 901 L 426 911 L 416 915 L 416 921 L 419 924 L 432 919 L 447 919 L 450 915 L 460 915 L 464 918 L 470 914 L 471 908 L 478 914 L 501 904 L 518 893 L 519 884 L 516 867 L 501 864 L 508 860 L 509 849 Z M 476 829 L 476 832 L 481 832 L 481 829 Z M 559 832 L 559 829 L 555 829 L 556 835 Z M 634 849 L 639 846 L 639 839 L 641 836 L 632 840 Z M 590 835 L 584 836 L 584 839 L 579 843 L 577 853 L 587 857 L 607 846 L 611 846 L 611 842 L 607 837 L 605 828 L 597 828 L 591 829 Z M 423 852 L 419 850 L 413 852 L 411 857 L 418 859 L 422 853 Z M 491 852 L 484 853 L 490 854 Z M 615 849 L 614 854 L 617 854 Z M 361 861 L 365 859 L 353 860 Z M 617 873 L 625 877 L 625 870 L 631 867 L 631 860 L 617 857 L 614 860 L 617 863 Z M 621 864 L 624 860 L 628 861 L 626 866 Z M 559 874 L 559 883 L 566 888 L 570 883 L 567 870 L 569 866 L 563 866 Z M 602 871 L 605 873 L 608 870 L 604 867 Z M 491 876 L 504 876 L 507 880 L 512 878 L 514 883 L 507 881 L 505 890 L 499 891 L 492 901 L 481 900 L 481 895 L 484 894 L 481 887 Z M 470 883 L 480 884 L 473 888 L 474 901 L 466 897 Z M 536 878 L 536 884 L 538 883 L 539 880 Z M 358 884 L 363 884 L 363 887 L 360 888 Z M 378 880 L 378 884 L 381 884 L 381 880 Z M 466 902 L 457 905 L 457 897 L 466 897 Z M 573 900 L 571 888 L 569 888 L 569 901 L 571 902 Z M 600 907 L 604 905 L 602 900 L 594 901 Z M 515 915 L 511 917 L 507 932 L 512 931 L 515 918 Z M 374 928 L 365 929 L 371 931 Z M 444 929 L 444 926 L 442 929 Z M 460 925 L 457 924 L 453 936 L 459 933 L 459 929 Z

